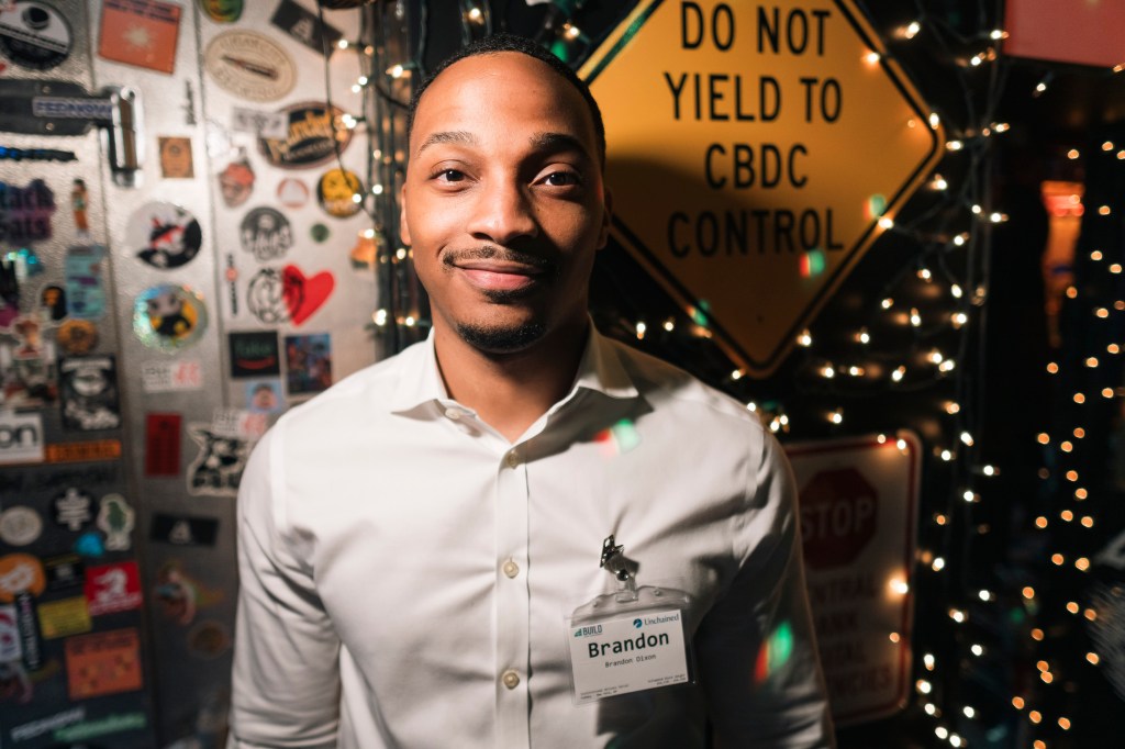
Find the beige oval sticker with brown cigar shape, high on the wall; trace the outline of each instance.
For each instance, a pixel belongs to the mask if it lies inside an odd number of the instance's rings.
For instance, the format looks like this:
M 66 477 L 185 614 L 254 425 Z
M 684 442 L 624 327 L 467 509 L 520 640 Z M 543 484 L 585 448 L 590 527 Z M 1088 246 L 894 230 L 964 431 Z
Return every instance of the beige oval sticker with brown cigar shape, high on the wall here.
M 292 90 L 297 67 L 285 49 L 253 31 L 219 34 L 204 54 L 219 88 L 249 101 L 273 101 Z

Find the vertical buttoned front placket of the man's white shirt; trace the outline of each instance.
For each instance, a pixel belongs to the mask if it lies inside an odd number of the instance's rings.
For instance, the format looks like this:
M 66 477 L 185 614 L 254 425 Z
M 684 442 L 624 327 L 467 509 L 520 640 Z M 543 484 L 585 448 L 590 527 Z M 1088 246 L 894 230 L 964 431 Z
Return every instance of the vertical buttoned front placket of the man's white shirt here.
M 508 449 L 496 481 L 496 746 L 530 746 L 528 667 L 528 473 L 520 446 Z

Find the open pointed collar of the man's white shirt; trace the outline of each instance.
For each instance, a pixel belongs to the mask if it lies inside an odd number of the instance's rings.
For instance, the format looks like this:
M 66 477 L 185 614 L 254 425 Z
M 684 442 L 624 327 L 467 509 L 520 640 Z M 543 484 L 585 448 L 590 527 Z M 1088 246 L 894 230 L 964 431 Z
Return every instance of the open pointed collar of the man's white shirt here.
M 562 400 L 569 400 L 579 390 L 593 390 L 611 398 L 636 398 L 639 395 L 632 378 L 621 364 L 613 341 L 597 332 L 593 322 L 590 323 L 590 336 L 574 386 Z M 398 354 L 403 362 L 398 386 L 390 399 L 392 413 L 407 413 L 418 406 L 430 403 L 452 404 L 446 391 L 446 383 L 438 369 L 438 355 L 434 350 L 433 331 L 425 341 L 410 346 Z

